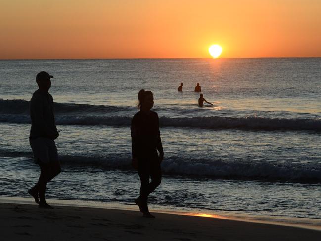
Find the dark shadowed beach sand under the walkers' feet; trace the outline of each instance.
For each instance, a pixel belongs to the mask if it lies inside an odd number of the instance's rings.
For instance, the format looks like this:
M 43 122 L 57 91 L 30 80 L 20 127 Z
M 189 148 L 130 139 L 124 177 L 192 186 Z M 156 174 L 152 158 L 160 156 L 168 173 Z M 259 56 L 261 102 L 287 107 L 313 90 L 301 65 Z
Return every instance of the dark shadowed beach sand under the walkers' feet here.
M 0 203 L 3 241 L 320 241 L 321 231 L 227 219 L 137 211 Z

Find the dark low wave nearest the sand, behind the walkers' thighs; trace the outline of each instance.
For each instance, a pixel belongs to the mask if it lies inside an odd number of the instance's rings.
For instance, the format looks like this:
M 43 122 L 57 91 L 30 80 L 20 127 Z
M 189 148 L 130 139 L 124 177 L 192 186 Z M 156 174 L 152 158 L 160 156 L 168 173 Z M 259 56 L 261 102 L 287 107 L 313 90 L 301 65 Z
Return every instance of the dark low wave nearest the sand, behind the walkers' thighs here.
M 0 151 L 0 156 L 29 157 L 29 152 Z M 131 169 L 131 157 L 110 153 L 106 156 L 59 156 L 64 165 L 91 166 L 95 168 Z M 30 159 L 28 159 L 31 161 Z M 162 163 L 164 173 L 195 177 L 209 176 L 223 179 L 264 179 L 280 181 L 321 182 L 321 164 L 253 162 L 252 160 L 186 159 L 177 156 L 166 158 Z

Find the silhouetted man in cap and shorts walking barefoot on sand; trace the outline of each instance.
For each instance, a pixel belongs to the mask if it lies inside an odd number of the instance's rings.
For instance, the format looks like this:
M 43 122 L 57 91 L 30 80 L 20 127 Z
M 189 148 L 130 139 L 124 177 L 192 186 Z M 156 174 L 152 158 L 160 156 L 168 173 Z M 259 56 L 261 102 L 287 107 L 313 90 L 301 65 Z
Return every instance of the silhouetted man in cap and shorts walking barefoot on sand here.
M 40 208 L 53 208 L 46 203 L 45 191 L 47 182 L 60 173 L 57 147 L 54 140 L 59 136 L 54 119 L 53 98 L 48 93 L 51 87 L 47 72 L 37 74 L 36 82 L 39 89 L 30 100 L 31 129 L 29 142 L 34 153 L 35 161 L 40 166 L 38 183 L 28 193 L 39 203 Z

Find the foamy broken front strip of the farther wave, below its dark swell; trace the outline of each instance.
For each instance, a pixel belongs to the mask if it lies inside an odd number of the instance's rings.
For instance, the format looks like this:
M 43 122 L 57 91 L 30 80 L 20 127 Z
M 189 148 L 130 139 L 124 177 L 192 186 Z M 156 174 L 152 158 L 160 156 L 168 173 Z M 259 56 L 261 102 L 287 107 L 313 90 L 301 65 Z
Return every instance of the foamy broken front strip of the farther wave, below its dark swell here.
M 56 115 L 57 125 L 130 126 L 131 116 Z M 31 123 L 29 115 L 1 114 L 0 122 Z M 271 119 L 260 117 L 160 117 L 161 127 L 190 127 L 245 130 L 308 130 L 321 131 L 321 119 Z

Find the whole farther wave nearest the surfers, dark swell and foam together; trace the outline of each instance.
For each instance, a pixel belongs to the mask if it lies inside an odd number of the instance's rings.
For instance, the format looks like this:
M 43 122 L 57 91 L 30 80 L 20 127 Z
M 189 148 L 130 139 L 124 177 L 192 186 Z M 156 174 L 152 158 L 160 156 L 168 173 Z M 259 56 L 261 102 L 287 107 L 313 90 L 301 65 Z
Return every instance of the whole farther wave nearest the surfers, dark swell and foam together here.
M 83 104 L 55 104 L 57 125 L 129 126 L 134 108 Z M 0 100 L 0 122 L 30 123 L 29 102 Z M 263 117 L 160 117 L 163 127 L 190 127 L 246 130 L 321 131 L 321 119 L 279 119 Z

